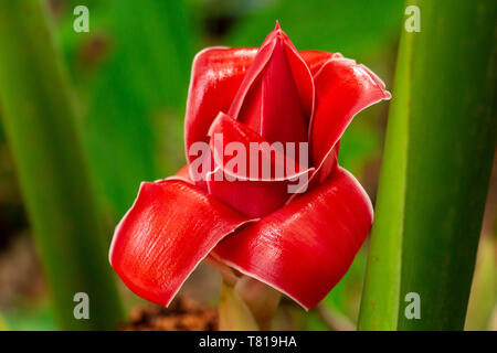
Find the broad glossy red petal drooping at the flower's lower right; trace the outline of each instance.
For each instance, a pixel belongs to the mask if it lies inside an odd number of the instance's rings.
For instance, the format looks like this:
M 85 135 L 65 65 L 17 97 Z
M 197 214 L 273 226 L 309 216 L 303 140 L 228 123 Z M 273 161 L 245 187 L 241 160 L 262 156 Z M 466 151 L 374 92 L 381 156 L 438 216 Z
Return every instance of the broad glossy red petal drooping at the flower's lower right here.
M 211 254 L 310 309 L 347 272 L 371 223 L 368 195 L 338 168 L 326 183 L 225 237 Z

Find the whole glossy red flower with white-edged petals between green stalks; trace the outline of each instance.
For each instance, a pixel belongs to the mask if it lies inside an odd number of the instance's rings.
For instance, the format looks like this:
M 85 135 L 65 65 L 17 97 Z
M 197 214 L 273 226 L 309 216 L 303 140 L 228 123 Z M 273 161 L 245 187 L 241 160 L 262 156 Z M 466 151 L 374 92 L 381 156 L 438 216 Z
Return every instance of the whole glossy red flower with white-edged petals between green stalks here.
M 346 274 L 372 223 L 368 195 L 338 165 L 341 135 L 356 114 L 389 98 L 366 66 L 298 52 L 278 25 L 260 49 L 200 52 L 184 124 L 188 165 L 142 183 L 116 228 L 114 269 L 140 297 L 168 304 L 212 256 L 311 308 Z M 195 142 L 210 143 L 205 153 Z M 220 157 L 230 142 L 308 142 L 310 165 L 275 150 L 292 172 L 243 176 Z M 263 151 L 261 163 L 278 159 Z M 305 193 L 288 193 L 299 175 L 308 179 Z

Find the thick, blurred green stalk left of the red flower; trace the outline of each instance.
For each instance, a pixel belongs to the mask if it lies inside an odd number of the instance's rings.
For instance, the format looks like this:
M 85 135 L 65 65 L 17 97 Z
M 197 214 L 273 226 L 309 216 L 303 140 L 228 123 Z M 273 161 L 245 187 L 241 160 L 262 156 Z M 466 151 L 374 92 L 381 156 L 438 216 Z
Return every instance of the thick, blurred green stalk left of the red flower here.
M 44 2 L 43 2 L 44 4 Z M 76 110 L 40 0 L 0 1 L 0 106 L 61 329 L 115 329 L 120 304 Z M 74 295 L 89 298 L 76 320 Z

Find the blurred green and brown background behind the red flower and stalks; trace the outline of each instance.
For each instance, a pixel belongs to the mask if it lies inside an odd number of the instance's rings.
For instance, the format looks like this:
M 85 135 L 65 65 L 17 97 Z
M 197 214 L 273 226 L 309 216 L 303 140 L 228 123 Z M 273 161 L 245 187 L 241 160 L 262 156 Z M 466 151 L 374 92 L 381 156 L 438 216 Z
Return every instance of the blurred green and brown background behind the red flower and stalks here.
M 194 54 L 210 45 L 258 46 L 279 20 L 297 49 L 340 52 L 392 89 L 404 20 L 400 0 L 50 0 L 56 42 L 82 119 L 106 244 L 141 181 L 184 164 L 183 117 Z M 73 9 L 89 9 L 89 33 L 75 33 Z M 361 113 L 346 131 L 340 163 L 374 203 L 388 104 Z M 495 164 L 495 163 L 494 163 Z M 466 329 L 497 329 L 494 168 Z M 345 279 L 309 314 L 285 300 L 276 329 L 347 330 L 357 323 L 368 243 Z M 0 328 L 56 329 L 31 229 L 0 126 Z M 214 304 L 219 277 L 201 266 L 183 292 Z M 121 286 L 123 287 L 123 286 Z M 120 288 L 126 310 L 141 303 Z

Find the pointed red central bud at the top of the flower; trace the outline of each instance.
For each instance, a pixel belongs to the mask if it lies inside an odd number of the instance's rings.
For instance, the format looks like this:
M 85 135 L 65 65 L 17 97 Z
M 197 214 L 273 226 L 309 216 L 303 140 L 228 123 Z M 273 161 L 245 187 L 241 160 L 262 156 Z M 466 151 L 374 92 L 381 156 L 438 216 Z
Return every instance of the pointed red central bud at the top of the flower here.
M 286 34 L 276 26 L 262 44 L 229 115 L 269 142 L 306 141 L 314 84 Z

